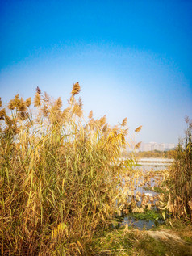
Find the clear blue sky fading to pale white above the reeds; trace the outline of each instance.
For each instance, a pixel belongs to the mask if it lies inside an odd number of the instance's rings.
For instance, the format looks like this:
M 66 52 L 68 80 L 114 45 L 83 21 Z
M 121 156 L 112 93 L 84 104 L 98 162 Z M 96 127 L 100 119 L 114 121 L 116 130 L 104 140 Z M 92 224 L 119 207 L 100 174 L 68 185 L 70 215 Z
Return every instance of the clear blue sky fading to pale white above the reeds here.
M 35 87 L 86 114 L 124 117 L 138 141 L 177 143 L 192 118 L 192 1 L 0 0 L 0 96 Z

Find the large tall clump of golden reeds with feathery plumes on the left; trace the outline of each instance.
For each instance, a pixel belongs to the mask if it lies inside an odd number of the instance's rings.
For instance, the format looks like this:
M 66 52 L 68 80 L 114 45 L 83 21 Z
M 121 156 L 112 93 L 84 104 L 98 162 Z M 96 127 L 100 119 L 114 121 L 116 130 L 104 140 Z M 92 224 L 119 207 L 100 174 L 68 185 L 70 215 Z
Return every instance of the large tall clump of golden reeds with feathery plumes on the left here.
M 7 109 L 0 100 L 2 255 L 90 255 L 94 233 L 119 210 L 126 120 L 111 128 L 90 112 L 84 124 L 79 92 L 76 83 L 65 109 L 40 88 L 34 107 L 19 95 Z

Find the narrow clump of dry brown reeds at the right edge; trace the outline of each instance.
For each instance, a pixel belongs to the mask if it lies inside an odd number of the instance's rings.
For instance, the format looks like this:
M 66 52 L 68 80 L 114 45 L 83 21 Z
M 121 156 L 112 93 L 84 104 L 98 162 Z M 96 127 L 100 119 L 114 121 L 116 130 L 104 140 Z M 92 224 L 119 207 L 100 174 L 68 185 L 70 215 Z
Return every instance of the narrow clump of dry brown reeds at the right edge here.
M 192 120 L 186 117 L 186 136 L 173 152 L 173 165 L 168 170 L 165 208 L 173 216 L 192 222 Z

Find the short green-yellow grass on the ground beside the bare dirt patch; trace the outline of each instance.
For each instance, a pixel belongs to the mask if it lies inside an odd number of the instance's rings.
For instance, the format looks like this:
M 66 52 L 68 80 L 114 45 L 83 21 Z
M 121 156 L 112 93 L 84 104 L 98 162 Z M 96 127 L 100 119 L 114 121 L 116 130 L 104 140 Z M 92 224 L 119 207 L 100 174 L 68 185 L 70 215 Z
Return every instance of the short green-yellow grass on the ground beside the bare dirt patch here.
M 192 232 L 191 226 L 185 225 L 182 221 L 172 221 L 173 224 L 157 226 L 153 230 L 170 230 L 177 234 L 186 244 L 176 243 L 175 241 L 157 241 L 148 236 L 148 233 L 141 230 L 127 229 L 123 227 L 117 230 L 111 230 L 94 237 L 93 248 L 96 255 L 186 255 L 192 254 Z M 182 226 L 178 230 L 178 226 Z

